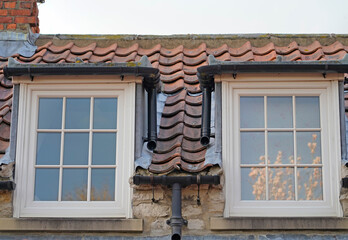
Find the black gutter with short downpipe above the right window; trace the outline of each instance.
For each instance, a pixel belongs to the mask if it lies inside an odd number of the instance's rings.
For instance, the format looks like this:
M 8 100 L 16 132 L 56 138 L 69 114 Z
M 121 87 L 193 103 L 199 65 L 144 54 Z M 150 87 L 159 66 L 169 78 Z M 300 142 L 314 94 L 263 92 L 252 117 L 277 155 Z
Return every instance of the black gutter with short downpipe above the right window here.
M 211 94 L 214 91 L 214 77 L 223 73 L 231 73 L 235 79 L 239 73 L 348 73 L 348 54 L 340 61 L 292 61 L 283 62 L 278 56 L 276 61 L 269 62 L 231 62 L 219 61 L 209 55 L 207 66 L 197 69 L 198 80 L 203 92 L 201 144 L 210 142 Z

